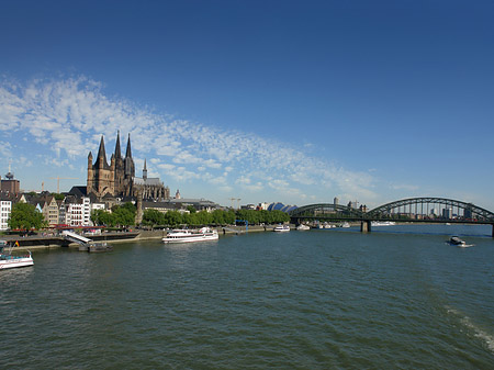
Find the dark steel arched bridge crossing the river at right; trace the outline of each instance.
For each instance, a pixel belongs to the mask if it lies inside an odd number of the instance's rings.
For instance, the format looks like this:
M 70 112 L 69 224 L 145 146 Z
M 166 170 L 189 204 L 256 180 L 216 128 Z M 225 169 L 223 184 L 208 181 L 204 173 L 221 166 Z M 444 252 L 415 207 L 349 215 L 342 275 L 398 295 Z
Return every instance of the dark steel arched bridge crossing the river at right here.
M 407 223 L 451 223 L 492 225 L 494 213 L 473 203 L 446 198 L 409 198 L 380 205 L 373 210 L 352 209 L 347 205 L 317 203 L 289 212 L 292 223 L 302 221 L 360 222 L 361 232 L 370 232 L 373 221 Z

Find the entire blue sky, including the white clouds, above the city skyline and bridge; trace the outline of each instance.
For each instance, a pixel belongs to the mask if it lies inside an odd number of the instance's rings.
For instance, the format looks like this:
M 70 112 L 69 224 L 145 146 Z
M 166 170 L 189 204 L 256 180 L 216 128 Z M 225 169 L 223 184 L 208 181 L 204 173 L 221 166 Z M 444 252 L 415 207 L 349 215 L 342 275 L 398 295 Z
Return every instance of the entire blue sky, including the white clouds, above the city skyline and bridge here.
M 494 3 L 0 2 L 0 175 L 86 184 L 104 135 L 171 194 L 494 210 Z

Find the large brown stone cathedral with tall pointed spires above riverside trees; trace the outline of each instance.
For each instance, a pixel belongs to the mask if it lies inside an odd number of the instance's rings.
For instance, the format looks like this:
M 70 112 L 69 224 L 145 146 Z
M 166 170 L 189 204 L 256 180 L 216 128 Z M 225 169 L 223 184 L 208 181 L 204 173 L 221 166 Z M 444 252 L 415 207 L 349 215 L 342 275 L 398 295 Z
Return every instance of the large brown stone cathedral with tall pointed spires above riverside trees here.
M 131 134 L 128 134 L 125 157 L 120 148 L 120 132 L 116 134 L 115 153 L 112 154 L 110 165 L 106 161 L 104 139 L 101 136 L 98 157 L 92 162 L 92 153 L 88 155 L 87 194 L 94 194 L 98 199 L 114 197 L 121 199 L 137 199 L 162 201 L 170 198 L 170 189 L 165 187 L 159 178 L 148 178 L 146 160 L 143 177 L 135 176 L 134 160 L 131 150 Z

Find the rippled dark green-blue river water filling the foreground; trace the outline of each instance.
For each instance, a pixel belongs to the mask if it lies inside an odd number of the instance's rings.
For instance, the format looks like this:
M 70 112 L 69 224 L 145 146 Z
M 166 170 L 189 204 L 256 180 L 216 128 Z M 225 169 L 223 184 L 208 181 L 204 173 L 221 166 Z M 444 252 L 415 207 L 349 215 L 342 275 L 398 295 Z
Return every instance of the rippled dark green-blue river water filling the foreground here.
M 493 369 L 491 233 L 389 226 L 36 250 L 33 267 L 0 271 L 0 368 Z

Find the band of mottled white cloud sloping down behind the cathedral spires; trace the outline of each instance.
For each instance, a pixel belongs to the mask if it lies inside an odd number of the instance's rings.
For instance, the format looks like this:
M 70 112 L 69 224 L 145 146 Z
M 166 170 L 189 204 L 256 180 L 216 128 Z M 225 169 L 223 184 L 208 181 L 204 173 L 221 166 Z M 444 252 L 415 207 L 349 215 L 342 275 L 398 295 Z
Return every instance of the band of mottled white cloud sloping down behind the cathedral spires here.
M 201 188 L 203 182 L 216 192 L 239 187 L 256 197 L 270 192 L 270 198 L 282 195 L 293 203 L 330 192 L 375 198 L 369 172 L 311 157 L 288 143 L 175 120 L 108 97 L 102 83 L 86 77 L 0 83 L 0 131 L 22 134 L 26 143 L 34 139 L 52 152 L 56 160 L 46 166 L 82 161 L 89 150 L 97 150 L 101 135 L 110 153 L 117 130 L 123 146 L 131 134 L 134 157 L 147 158 L 153 173 L 177 183 L 193 181 Z

